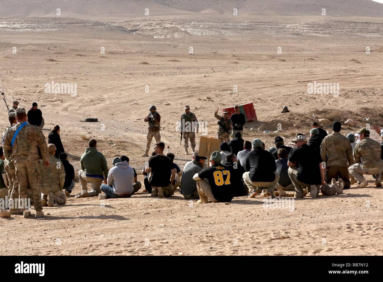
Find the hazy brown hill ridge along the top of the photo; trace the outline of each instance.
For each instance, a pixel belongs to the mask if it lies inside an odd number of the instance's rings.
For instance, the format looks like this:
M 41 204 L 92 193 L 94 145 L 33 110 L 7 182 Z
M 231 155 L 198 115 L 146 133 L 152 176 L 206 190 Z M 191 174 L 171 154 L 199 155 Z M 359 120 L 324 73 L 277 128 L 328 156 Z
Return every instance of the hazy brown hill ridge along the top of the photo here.
M 2 0 L 0 17 L 55 16 L 60 8 L 62 16 L 144 16 L 149 8 L 151 16 L 188 13 L 232 15 L 306 15 L 319 16 L 326 8 L 328 16 L 383 17 L 383 4 L 371 0 Z

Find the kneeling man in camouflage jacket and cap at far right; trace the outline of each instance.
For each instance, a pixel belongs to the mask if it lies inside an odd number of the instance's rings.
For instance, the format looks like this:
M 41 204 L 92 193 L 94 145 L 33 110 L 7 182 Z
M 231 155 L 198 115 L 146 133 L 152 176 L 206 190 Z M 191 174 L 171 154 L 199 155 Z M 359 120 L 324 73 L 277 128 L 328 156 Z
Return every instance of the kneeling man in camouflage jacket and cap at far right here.
M 376 187 L 381 187 L 381 174 L 383 172 L 383 161 L 380 158 L 381 148 L 379 142 L 370 138 L 370 130 L 365 127 L 359 131 L 360 142 L 354 148 L 353 165 L 349 167 L 349 173 L 354 176 L 359 185 L 356 188 L 363 188 L 368 185 L 363 174 L 376 175 Z

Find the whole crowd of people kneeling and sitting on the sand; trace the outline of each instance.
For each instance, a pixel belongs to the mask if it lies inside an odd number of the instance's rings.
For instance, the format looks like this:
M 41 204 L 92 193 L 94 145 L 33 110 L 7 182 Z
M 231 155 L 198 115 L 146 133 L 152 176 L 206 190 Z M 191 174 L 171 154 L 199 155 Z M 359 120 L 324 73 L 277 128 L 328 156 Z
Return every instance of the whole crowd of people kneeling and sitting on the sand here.
M 363 175 L 372 175 L 376 187 L 382 186 L 383 142 L 371 139 L 369 130 L 362 128 L 357 134 L 345 136 L 340 133 L 338 121 L 332 124 L 331 134 L 319 128 L 316 122 L 311 127 L 309 139 L 301 133 L 295 135 L 291 140 L 295 147 L 286 146 L 283 138 L 277 136 L 275 147 L 268 150 L 260 139 L 245 141 L 237 132 L 234 139 L 222 142 L 219 151 L 211 153 L 209 167 L 207 158 L 196 151 L 183 170 L 174 163 L 173 153 L 164 155 L 165 144 L 158 142 L 142 169 L 143 191 L 153 197 L 170 197 L 180 187 L 185 199 L 215 203 L 231 201 L 235 196 L 254 198 L 259 193 L 264 197 L 285 196 L 286 191 L 294 191 L 295 198 L 316 198 L 319 192 L 335 195 L 354 183 L 358 183 L 356 188 L 367 186 Z M 383 140 L 383 129 L 378 126 L 374 129 Z M 74 168 L 67 161 L 66 153 L 56 157 L 54 144 L 48 144 L 48 150 L 52 158 L 50 162 L 57 160 L 62 167 L 55 172 L 46 171 L 46 175 L 41 176 L 41 202 L 43 206 L 65 204 L 66 196 L 74 188 Z M 2 148 L 0 159 L 1 168 Z M 106 158 L 98 152 L 95 139 L 89 140 L 80 165 L 81 191 L 75 198 L 125 198 L 141 189 L 136 170 L 129 165 L 129 157 L 115 157 L 113 167 L 108 170 Z M 5 179 L 5 175 L 2 176 Z M 44 181 L 44 178 L 49 180 Z M 44 183 L 49 185 L 44 186 Z

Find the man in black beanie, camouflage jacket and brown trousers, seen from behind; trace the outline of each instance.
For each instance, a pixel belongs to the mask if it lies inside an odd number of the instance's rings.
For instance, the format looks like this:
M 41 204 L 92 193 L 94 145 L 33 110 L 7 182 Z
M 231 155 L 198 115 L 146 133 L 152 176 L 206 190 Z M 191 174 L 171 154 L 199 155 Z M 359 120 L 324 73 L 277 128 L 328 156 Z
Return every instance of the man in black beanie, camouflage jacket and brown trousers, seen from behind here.
M 350 188 L 348 167 L 354 163 L 349 139 L 340 134 L 342 125 L 339 121 L 332 124 L 332 134 L 324 137 L 321 143 L 321 157 L 326 162 L 326 182 L 331 184 L 332 178 L 342 178 L 344 188 Z

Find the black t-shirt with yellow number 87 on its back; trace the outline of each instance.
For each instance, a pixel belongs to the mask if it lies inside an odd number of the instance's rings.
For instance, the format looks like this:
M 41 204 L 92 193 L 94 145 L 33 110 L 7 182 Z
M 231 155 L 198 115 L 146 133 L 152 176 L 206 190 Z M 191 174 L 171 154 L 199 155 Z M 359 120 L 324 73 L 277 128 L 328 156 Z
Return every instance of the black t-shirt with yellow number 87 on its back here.
M 234 197 L 234 189 L 230 180 L 230 171 L 221 163 L 214 163 L 198 173 L 201 179 L 209 181 L 214 198 L 220 202 L 229 202 Z

